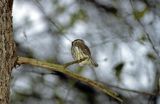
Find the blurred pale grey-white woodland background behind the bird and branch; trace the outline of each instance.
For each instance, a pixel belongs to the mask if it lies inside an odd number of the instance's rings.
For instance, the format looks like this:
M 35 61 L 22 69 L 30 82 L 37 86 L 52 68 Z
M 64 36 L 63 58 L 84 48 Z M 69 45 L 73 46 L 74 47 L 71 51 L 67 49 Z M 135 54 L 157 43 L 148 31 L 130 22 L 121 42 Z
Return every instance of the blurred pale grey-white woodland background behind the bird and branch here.
M 127 103 L 160 104 L 159 0 L 14 0 L 13 28 L 19 56 L 57 64 L 73 61 L 71 42 L 83 39 L 99 67 L 70 71 L 110 86 Z M 118 104 L 47 69 L 20 65 L 12 76 L 11 104 Z

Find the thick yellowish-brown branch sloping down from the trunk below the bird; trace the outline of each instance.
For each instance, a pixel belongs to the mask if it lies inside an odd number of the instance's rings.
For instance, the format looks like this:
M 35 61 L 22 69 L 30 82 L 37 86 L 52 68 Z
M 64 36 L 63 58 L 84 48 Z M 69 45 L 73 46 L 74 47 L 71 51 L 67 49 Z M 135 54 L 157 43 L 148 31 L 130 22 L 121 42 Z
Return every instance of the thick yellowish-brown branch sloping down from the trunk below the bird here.
M 30 64 L 30 65 L 43 67 L 43 68 L 50 69 L 52 71 L 57 71 L 57 72 L 63 73 L 65 75 L 68 75 L 71 78 L 79 80 L 82 83 L 85 83 L 85 84 L 87 84 L 87 85 L 89 85 L 89 86 L 91 86 L 95 89 L 98 89 L 98 90 L 104 92 L 105 94 L 111 96 L 112 98 L 116 99 L 119 102 L 123 102 L 123 100 L 119 97 L 118 93 L 114 92 L 113 90 L 104 86 L 101 83 L 92 81 L 90 79 L 87 79 L 85 77 L 82 77 L 82 76 L 80 76 L 76 73 L 73 73 L 73 72 L 69 71 L 68 69 L 66 69 L 65 65 L 48 63 L 48 62 L 45 62 L 45 61 L 38 61 L 38 60 L 35 60 L 35 59 L 26 58 L 26 57 L 18 57 L 17 64 Z

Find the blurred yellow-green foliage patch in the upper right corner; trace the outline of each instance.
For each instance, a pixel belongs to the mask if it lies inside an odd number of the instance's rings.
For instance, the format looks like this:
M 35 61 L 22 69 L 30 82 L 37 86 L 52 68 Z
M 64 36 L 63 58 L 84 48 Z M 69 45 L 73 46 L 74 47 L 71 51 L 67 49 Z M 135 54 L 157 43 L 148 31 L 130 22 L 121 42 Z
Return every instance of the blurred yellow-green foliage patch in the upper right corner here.
M 140 20 L 144 15 L 145 13 L 148 11 L 148 8 L 145 7 L 143 10 L 139 11 L 139 10 L 134 10 L 133 11 L 133 16 L 135 19 L 137 20 Z

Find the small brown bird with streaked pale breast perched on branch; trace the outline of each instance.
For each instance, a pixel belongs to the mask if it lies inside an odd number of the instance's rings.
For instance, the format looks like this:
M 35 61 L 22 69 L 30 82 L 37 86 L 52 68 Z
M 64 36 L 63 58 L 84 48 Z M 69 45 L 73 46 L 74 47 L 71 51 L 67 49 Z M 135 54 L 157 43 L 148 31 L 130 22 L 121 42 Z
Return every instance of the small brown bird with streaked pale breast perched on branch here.
M 98 67 L 98 64 L 91 56 L 91 52 L 88 46 L 82 39 L 76 39 L 72 42 L 71 53 L 74 60 L 81 60 L 86 58 L 84 61 L 81 61 L 79 65 L 93 65 L 94 67 Z

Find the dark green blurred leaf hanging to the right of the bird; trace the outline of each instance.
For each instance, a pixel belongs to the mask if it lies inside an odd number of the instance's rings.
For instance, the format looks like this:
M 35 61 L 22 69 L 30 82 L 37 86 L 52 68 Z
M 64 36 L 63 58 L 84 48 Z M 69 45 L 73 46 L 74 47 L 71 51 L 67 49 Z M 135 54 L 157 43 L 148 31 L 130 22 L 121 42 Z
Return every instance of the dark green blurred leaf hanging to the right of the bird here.
M 124 66 L 124 63 L 121 62 L 121 63 L 118 63 L 118 64 L 114 67 L 115 76 L 117 77 L 118 80 L 120 80 L 120 75 L 121 75 L 121 73 L 122 73 L 123 66 Z

